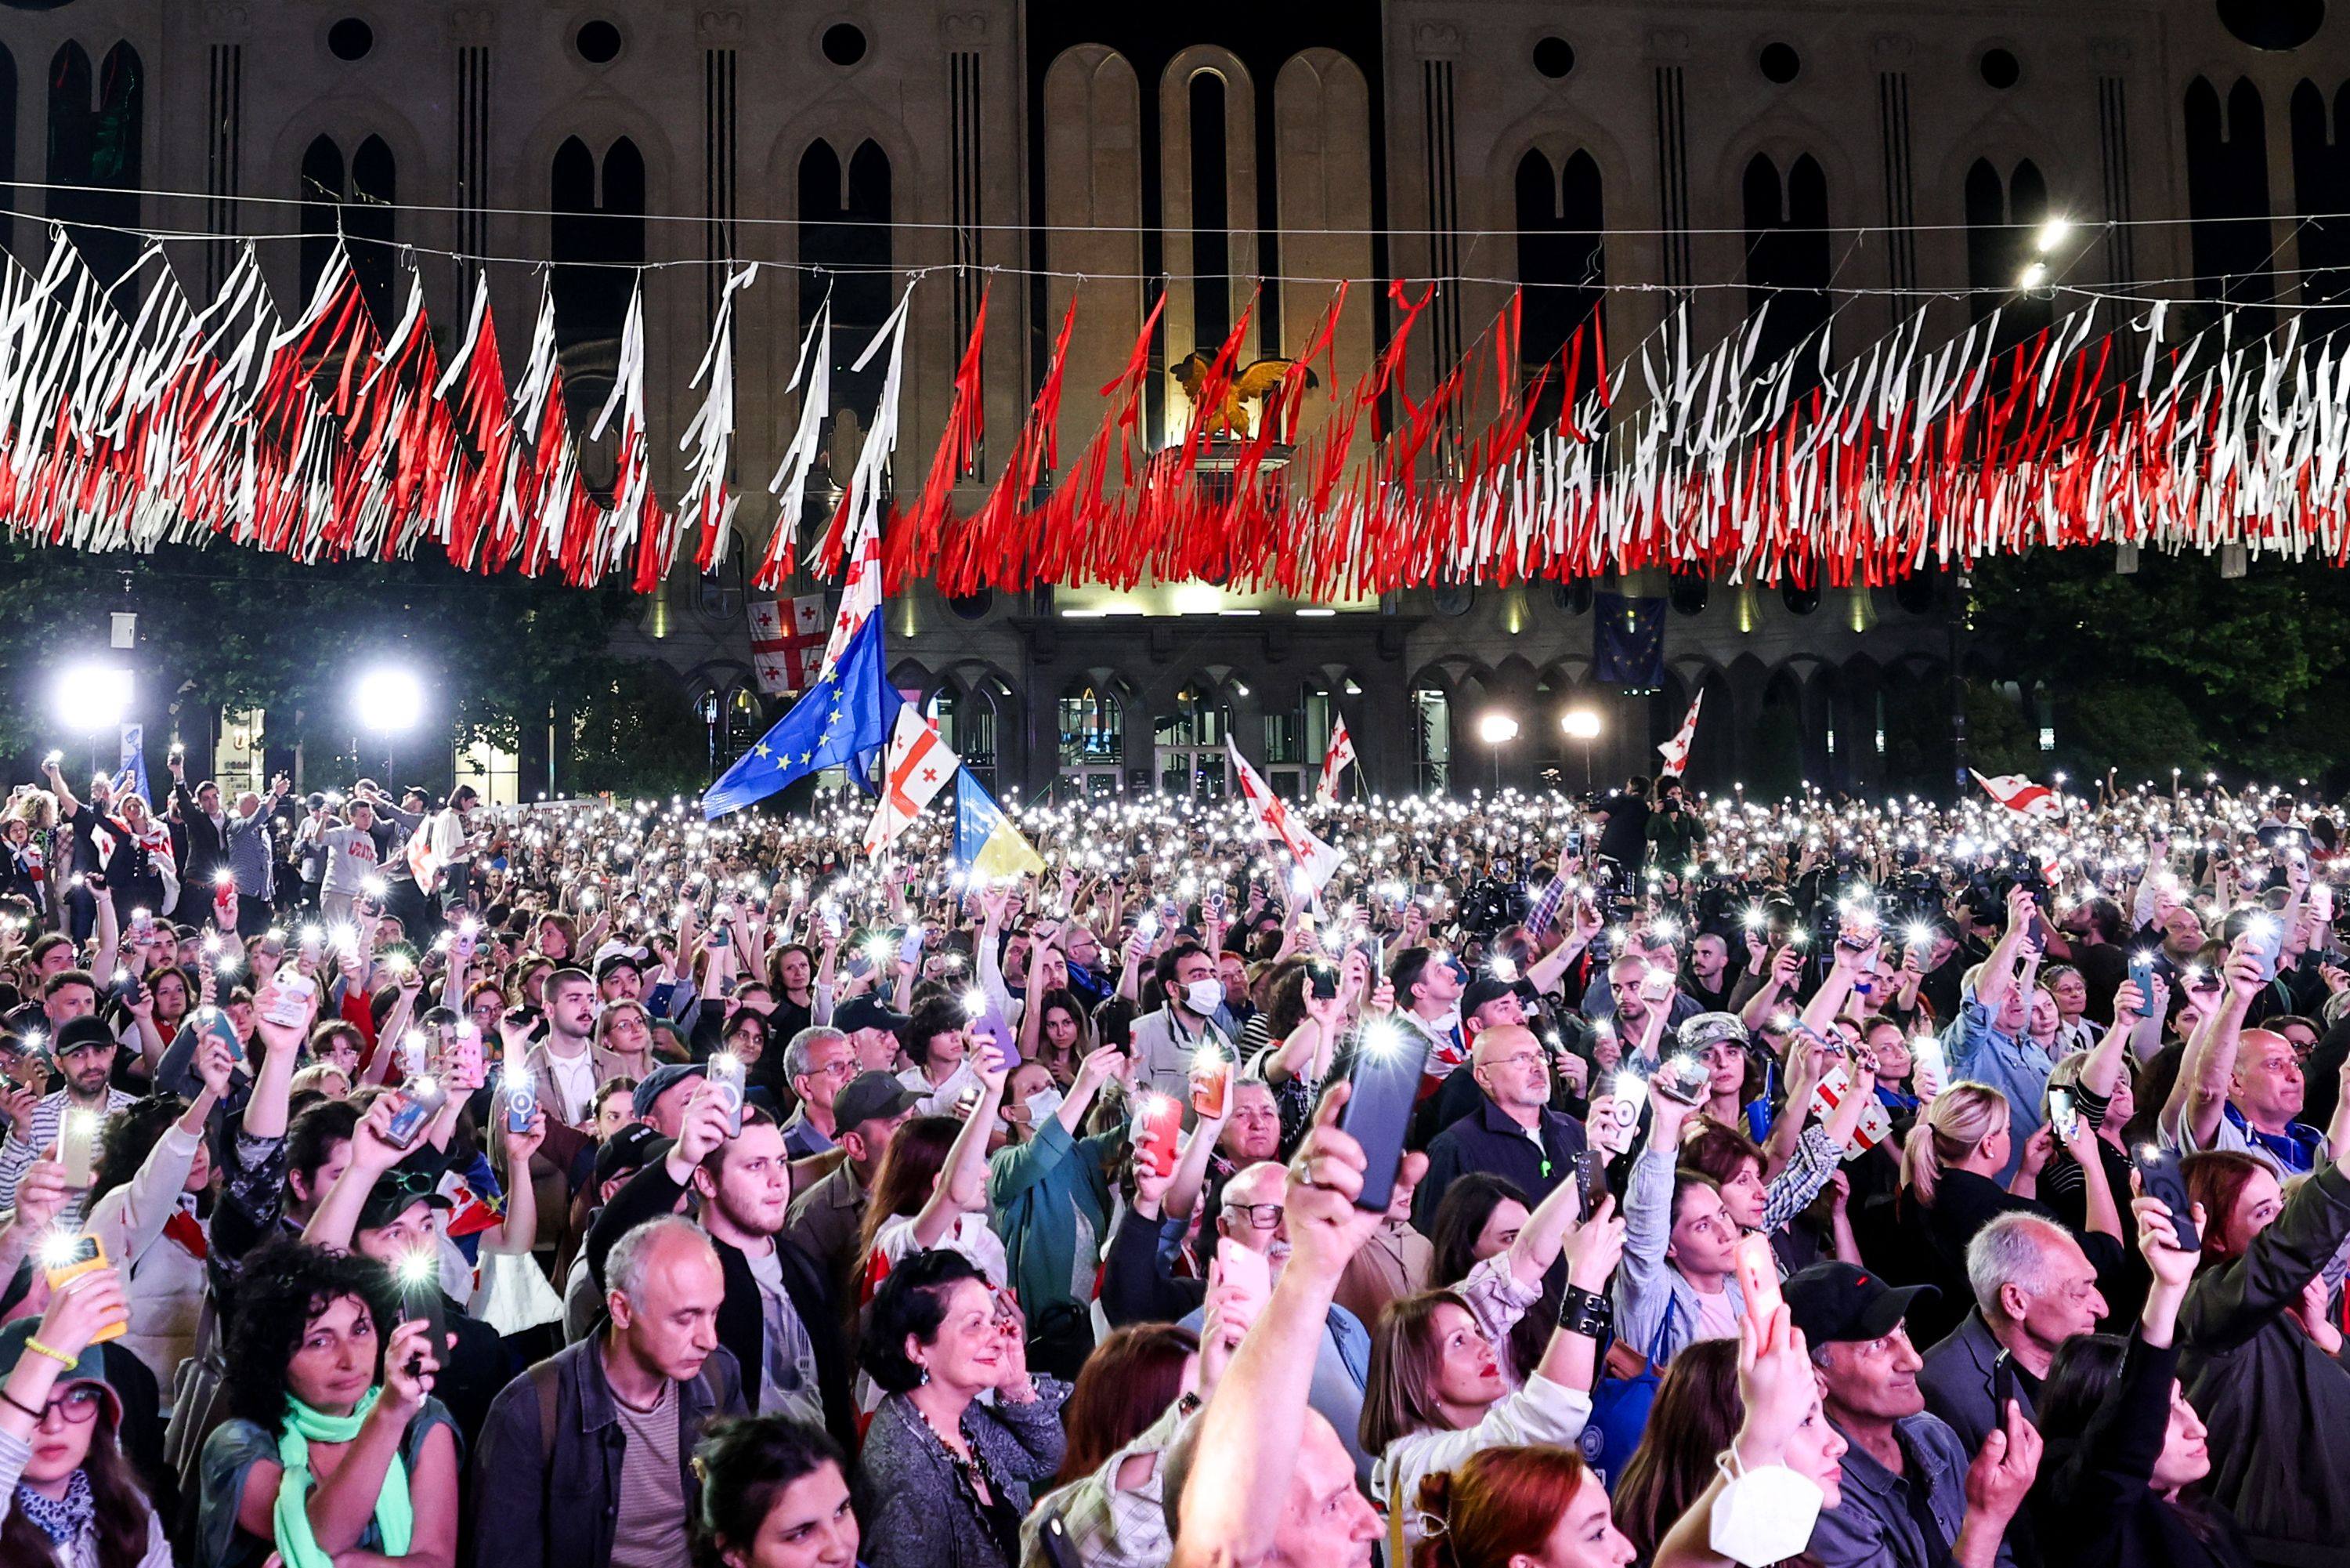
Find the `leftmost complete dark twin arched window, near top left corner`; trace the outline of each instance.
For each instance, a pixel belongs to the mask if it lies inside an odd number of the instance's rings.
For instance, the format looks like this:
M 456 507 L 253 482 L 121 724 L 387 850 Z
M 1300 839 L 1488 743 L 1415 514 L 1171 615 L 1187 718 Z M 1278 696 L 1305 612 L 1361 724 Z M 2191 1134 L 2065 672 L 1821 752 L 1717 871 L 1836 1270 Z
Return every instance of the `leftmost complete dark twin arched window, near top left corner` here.
M 66 226 L 82 261 L 113 284 L 139 261 L 139 165 L 143 68 L 118 42 L 96 75 L 80 45 L 49 61 L 49 216 Z

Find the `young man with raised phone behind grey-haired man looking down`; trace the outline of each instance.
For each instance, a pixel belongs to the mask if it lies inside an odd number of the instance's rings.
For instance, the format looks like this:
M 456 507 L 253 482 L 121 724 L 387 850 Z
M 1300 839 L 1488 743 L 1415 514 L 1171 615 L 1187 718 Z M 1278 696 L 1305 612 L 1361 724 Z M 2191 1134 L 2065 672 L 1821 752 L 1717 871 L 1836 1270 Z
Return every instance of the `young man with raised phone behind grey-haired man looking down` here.
M 750 1107 L 728 1133 L 728 1107 L 705 1081 L 686 1105 L 677 1145 L 611 1194 L 588 1232 L 588 1272 L 606 1288 L 604 1260 L 644 1220 L 674 1213 L 691 1194 L 719 1253 L 726 1298 L 719 1345 L 743 1368 L 743 1403 L 759 1415 L 794 1415 L 832 1432 L 841 1448 L 858 1436 L 841 1312 L 815 1262 L 780 1239 L 792 1201 L 792 1157 L 783 1128 Z

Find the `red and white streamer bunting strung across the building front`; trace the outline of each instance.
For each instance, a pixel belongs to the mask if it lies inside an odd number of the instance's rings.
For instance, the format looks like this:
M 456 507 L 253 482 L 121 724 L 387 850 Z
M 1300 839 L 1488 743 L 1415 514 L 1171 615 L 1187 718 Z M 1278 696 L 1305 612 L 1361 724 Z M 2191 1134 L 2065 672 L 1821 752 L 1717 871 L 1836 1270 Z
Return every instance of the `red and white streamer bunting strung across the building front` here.
M 78 550 L 226 538 L 303 562 L 437 548 L 472 571 L 580 585 L 618 574 L 639 590 L 691 536 L 712 569 L 738 510 L 726 480 L 740 435 L 733 301 L 754 270 L 728 273 L 698 360 L 684 501 L 670 512 L 656 494 L 642 289 L 588 433 L 618 449 L 599 498 L 580 475 L 545 292 L 508 376 L 484 284 L 442 362 L 414 268 L 397 322 L 378 329 L 341 247 L 287 317 L 251 247 L 200 303 L 160 242 L 129 289 L 108 289 L 59 233 L 38 270 L 0 261 L 0 527 Z M 2350 559 L 2350 339 L 2305 336 L 2296 317 L 2249 336 L 2235 313 L 2200 313 L 2204 324 L 2181 331 L 2183 313 L 2162 301 L 2136 317 L 2082 306 L 2021 334 L 1993 313 L 1929 343 L 1918 315 L 1866 346 L 1824 329 L 1770 360 L 1767 310 L 1718 343 L 1676 313 L 1614 364 L 1591 317 L 1549 364 L 1523 364 L 1511 299 L 1412 397 L 1403 367 L 1434 287 L 1415 299 L 1389 284 L 1389 341 L 1361 367 L 1337 364 L 1340 289 L 1304 353 L 1276 369 L 1241 364 L 1243 313 L 1187 369 L 1189 404 L 1206 414 L 1161 449 L 1144 423 L 1152 357 L 1166 348 L 1154 306 L 1097 416 L 1079 418 L 1093 437 L 1062 465 L 1072 299 L 1003 465 L 980 470 L 982 308 L 952 400 L 924 404 L 947 425 L 928 482 L 912 489 L 891 482 L 909 299 L 858 360 L 886 355 L 884 390 L 853 470 L 832 475 L 841 501 L 813 548 L 801 510 L 834 423 L 830 301 L 799 348 L 799 402 L 778 433 L 778 527 L 757 578 L 778 585 L 801 550 L 825 574 L 879 557 L 848 623 L 879 599 L 884 574 L 891 585 L 935 578 L 947 595 L 1208 578 L 1340 599 L 1652 564 L 1887 583 L 2106 543 Z M 1328 393 L 1309 400 L 1316 360 Z M 1234 421 L 1250 388 L 1257 411 Z M 1537 418 L 1553 400 L 1556 416 Z M 985 491 L 956 512 L 971 477 Z

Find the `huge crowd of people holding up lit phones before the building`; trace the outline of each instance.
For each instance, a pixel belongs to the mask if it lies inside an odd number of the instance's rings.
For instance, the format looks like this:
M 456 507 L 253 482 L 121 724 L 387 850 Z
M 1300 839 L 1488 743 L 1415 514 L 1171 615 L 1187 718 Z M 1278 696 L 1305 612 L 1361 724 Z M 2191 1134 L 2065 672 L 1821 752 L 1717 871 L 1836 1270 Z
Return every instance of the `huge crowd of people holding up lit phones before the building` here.
M 5 1563 L 2350 1561 L 2315 799 L 169 773 L 0 811 Z

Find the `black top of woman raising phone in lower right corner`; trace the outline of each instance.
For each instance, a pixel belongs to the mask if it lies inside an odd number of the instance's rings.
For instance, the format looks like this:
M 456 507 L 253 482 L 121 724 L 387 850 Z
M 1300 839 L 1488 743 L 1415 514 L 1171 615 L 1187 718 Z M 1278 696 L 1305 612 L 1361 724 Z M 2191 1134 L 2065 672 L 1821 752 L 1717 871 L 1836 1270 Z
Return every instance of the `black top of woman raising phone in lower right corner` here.
M 2150 1486 L 2176 1375 L 2176 1345 L 2155 1349 L 2129 1335 L 2122 1378 L 2087 1429 L 2049 1441 L 2030 1495 L 2044 1561 L 2066 1568 L 2249 1568 L 2228 1509 L 2164 1502 Z

